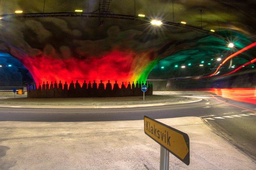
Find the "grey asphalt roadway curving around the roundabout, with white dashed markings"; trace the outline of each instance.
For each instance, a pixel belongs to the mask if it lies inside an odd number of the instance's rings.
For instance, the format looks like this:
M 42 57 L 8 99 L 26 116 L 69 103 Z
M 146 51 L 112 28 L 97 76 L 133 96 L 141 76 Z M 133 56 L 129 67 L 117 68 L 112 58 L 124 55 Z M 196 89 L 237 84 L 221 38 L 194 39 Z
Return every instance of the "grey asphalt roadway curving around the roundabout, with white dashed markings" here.
M 191 97 L 191 96 L 189 96 Z M 141 120 L 197 116 L 210 124 L 216 133 L 256 158 L 256 106 L 210 95 L 194 96 L 200 102 L 157 107 L 122 109 L 0 109 L 0 121 L 81 122 Z M 171 126 L 171 125 L 170 125 Z

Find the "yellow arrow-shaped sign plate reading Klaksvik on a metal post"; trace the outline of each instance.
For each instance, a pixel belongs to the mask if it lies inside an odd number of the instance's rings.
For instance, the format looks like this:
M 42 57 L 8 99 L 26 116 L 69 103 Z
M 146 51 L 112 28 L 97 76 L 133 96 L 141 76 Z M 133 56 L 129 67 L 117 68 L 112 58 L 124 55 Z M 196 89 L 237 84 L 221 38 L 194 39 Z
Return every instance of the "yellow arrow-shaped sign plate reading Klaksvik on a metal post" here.
M 159 121 L 144 116 L 144 132 L 159 145 L 189 165 L 189 136 Z

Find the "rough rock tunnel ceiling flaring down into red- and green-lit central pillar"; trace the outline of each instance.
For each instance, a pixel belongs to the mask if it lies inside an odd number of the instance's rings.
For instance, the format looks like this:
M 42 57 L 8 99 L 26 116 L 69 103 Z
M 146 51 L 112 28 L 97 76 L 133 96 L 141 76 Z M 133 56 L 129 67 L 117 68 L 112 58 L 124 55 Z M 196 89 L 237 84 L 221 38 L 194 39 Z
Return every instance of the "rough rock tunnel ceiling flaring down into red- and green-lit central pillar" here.
M 102 1 L 100 1 L 102 3 Z M 174 7 L 174 8 L 173 8 Z M 0 14 L 99 12 L 98 0 L 1 0 Z M 112 0 L 110 14 L 187 22 L 234 42 L 197 31 L 150 22 L 86 17 L 2 18 L 0 51 L 19 59 L 36 83 L 62 80 L 141 81 L 214 73 L 231 54 L 255 42 L 254 0 Z M 136 14 L 136 15 L 135 15 Z M 17 14 L 18 15 L 18 14 Z M 255 47 L 229 59 L 219 75 L 255 59 Z M 221 61 L 216 61 L 216 58 Z M 204 66 L 200 66 L 204 65 Z M 181 66 L 186 69 L 181 70 Z M 254 70 L 254 64 L 241 68 Z M 254 70 L 255 71 L 255 70 Z

